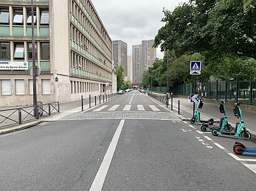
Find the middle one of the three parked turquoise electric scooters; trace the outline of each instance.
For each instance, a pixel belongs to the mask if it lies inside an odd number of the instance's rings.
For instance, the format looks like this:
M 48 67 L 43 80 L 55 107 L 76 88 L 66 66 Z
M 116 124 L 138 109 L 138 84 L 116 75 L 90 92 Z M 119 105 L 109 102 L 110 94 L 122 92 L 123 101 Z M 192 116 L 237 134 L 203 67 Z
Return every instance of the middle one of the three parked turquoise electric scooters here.
M 220 105 L 219 105 L 220 113 L 224 113 L 224 118 L 220 118 L 219 128 L 222 129 L 222 130 L 224 129 L 227 132 L 231 132 L 233 128 L 227 121 L 227 114 L 226 114 L 224 103 L 225 103 L 225 101 L 222 100 Z M 213 128 L 218 128 L 218 127 L 216 127 L 216 126 L 210 127 L 209 124 L 202 124 L 202 126 L 201 126 L 202 131 L 210 131 Z

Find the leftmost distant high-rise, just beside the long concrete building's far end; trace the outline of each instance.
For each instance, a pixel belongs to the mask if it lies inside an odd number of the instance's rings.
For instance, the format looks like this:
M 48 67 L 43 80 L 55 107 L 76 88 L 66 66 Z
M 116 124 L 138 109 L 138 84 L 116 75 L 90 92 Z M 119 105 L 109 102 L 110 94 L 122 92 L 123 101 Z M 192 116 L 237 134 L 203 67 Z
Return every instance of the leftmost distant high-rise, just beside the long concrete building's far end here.
M 127 77 L 127 44 L 122 40 L 112 41 L 113 60 L 117 65 L 124 66 L 124 77 Z

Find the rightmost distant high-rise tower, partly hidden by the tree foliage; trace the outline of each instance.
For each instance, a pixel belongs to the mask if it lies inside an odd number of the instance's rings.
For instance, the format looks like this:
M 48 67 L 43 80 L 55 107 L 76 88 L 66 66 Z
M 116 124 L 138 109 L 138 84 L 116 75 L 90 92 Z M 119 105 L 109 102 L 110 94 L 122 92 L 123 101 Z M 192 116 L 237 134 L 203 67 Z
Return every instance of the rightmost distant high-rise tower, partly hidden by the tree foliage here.
M 157 49 L 153 48 L 154 40 L 142 40 L 142 72 L 153 66 Z

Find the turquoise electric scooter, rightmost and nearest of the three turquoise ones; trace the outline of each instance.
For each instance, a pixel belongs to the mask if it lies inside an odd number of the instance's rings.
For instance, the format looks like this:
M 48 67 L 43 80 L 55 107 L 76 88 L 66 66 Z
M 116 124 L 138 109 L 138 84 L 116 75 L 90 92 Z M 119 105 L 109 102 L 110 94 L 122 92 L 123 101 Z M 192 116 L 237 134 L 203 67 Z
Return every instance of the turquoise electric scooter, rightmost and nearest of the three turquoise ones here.
M 219 134 L 225 134 L 225 135 L 230 135 L 230 136 L 240 136 L 241 135 L 243 139 L 249 140 L 252 137 L 252 135 L 245 128 L 245 123 L 244 123 L 244 119 L 242 116 L 242 111 L 240 109 L 240 104 L 235 103 L 233 110 L 234 110 L 235 116 L 237 116 L 237 118 L 240 118 L 240 122 L 237 122 L 235 124 L 235 131 L 234 132 L 225 132 L 221 128 L 213 128 L 212 134 L 214 136 L 218 136 Z

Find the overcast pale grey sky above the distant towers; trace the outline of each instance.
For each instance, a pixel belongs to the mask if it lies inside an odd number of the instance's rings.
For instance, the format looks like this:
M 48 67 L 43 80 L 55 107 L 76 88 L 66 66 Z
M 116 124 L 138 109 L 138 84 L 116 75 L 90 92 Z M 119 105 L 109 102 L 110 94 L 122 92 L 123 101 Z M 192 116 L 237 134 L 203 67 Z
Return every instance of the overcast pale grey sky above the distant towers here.
M 127 43 L 128 55 L 132 45 L 142 40 L 154 39 L 164 22 L 163 7 L 173 11 L 181 2 L 188 0 L 92 0 L 101 21 L 112 40 Z M 160 49 L 157 57 L 162 58 Z

